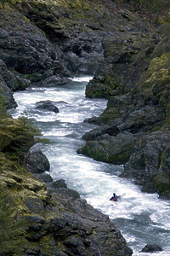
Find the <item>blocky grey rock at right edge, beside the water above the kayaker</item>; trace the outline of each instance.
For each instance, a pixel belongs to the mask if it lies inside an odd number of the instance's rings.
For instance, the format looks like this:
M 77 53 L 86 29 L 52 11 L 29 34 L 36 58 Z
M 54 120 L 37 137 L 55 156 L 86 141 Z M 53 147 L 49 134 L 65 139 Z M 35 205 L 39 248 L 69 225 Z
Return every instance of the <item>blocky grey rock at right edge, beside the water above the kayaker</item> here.
M 169 132 L 136 134 L 134 152 L 124 166 L 122 177 L 132 177 L 142 190 L 169 198 Z

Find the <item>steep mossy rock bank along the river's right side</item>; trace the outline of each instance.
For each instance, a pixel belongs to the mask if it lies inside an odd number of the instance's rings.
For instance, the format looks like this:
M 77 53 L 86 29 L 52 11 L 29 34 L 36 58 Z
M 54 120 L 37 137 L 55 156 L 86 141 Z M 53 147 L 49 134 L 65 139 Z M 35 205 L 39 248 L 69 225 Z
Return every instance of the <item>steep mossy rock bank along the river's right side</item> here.
M 169 13 L 155 34 L 132 32 L 126 18 L 126 40 L 106 38 L 105 61 L 87 86 L 87 96 L 109 101 L 99 118 L 87 120 L 100 127 L 83 136 L 88 143 L 78 153 L 124 165 L 122 177 L 169 199 Z

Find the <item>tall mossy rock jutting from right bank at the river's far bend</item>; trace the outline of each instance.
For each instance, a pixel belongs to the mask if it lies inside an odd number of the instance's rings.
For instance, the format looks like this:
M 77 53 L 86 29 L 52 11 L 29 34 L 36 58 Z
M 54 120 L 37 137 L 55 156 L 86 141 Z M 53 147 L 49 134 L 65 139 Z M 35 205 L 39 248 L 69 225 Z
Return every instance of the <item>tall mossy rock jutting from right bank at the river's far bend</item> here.
M 125 26 L 126 32 L 115 32 L 114 37 L 102 41 L 105 61 L 100 63 L 94 79 L 88 83 L 86 96 L 110 98 L 128 93 L 148 66 L 156 40 L 149 36 L 152 32 L 148 27 L 139 29 L 134 26 L 137 20 L 128 15 L 129 29 Z M 141 26 L 144 26 L 142 21 Z

